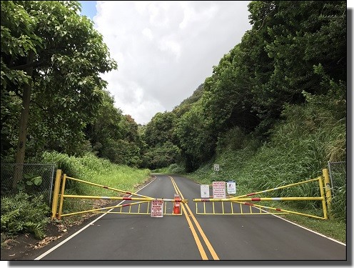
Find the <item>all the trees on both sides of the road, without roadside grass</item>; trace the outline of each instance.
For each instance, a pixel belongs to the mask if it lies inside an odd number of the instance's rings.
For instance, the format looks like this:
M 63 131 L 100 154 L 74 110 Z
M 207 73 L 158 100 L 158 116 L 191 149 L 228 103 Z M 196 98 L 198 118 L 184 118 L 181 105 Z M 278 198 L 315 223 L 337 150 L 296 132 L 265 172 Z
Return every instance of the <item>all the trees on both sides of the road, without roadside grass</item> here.
M 146 126 L 123 115 L 105 90 L 99 74 L 117 63 L 80 8 L 1 1 L 1 162 L 90 153 L 193 172 L 222 152 L 256 154 L 270 144 L 289 156 L 292 148 L 318 152 L 315 167 L 301 165 L 305 177 L 345 161 L 345 1 L 252 1 L 242 41 L 191 97 Z M 301 147 L 307 139 L 318 142 Z

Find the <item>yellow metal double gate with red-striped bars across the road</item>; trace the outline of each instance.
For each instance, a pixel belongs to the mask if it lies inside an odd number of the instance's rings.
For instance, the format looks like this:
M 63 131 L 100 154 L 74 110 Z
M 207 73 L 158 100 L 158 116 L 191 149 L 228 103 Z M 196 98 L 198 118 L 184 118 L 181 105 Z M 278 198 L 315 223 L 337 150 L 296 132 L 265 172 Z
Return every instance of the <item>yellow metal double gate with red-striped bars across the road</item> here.
M 86 195 L 73 195 L 73 194 L 65 194 L 65 184 L 66 184 L 66 179 L 71 179 L 77 182 L 82 182 L 85 184 L 90 184 L 95 187 L 102 187 L 104 189 L 110 189 L 116 192 L 121 192 L 123 194 L 130 194 L 131 196 L 136 196 L 136 197 L 101 197 L 101 196 L 86 196 Z M 309 182 L 318 182 L 318 187 L 320 188 L 320 197 L 253 197 L 256 194 L 264 194 L 266 192 L 271 192 L 279 189 L 284 189 L 287 187 L 295 187 L 300 184 L 306 184 Z M 323 184 L 324 181 L 324 184 Z M 61 193 L 59 194 L 61 186 Z M 98 209 L 89 209 L 81 212 L 71 212 L 71 213 L 66 213 L 63 214 L 63 205 L 64 205 L 64 198 L 69 198 L 69 199 L 111 199 L 111 200 L 121 200 L 122 202 L 128 201 L 130 203 L 126 204 L 117 204 L 115 206 L 111 207 L 103 207 L 103 208 L 98 208 Z M 316 215 L 312 214 L 305 214 L 301 212 L 294 212 L 286 209 L 280 209 L 280 208 L 275 208 L 275 207 L 269 207 L 269 206 L 264 206 L 260 204 L 254 204 L 253 202 L 262 202 L 262 201 L 321 201 L 322 203 L 322 208 L 323 208 L 323 217 L 319 217 Z M 136 201 L 136 202 L 134 202 Z M 156 199 L 154 197 L 147 197 L 142 194 L 137 194 L 133 192 L 126 192 L 122 191 L 120 189 L 112 188 L 112 187 L 106 187 L 101 184 L 95 184 L 92 182 L 86 182 L 81 179 L 75 179 L 72 177 L 67 177 L 66 174 L 64 176 L 61 175 L 61 170 L 58 169 L 56 172 L 56 181 L 55 181 L 55 186 L 54 186 L 54 197 L 53 197 L 53 204 L 52 204 L 52 216 L 51 219 L 61 219 L 61 217 L 64 216 L 70 216 L 74 214 L 83 214 L 83 213 L 116 213 L 116 214 L 151 214 L 152 212 L 152 202 L 161 202 L 162 207 L 164 207 L 163 212 L 161 214 L 163 215 L 181 215 L 181 212 L 179 211 L 179 204 L 181 203 L 187 203 L 187 199 L 163 199 L 159 198 Z M 228 197 L 228 198 L 222 198 L 222 199 L 213 199 L 213 198 L 203 198 L 203 199 L 193 199 L 193 202 L 196 202 L 196 214 L 225 214 L 225 215 L 230 215 L 230 214 L 298 214 L 298 215 L 303 215 L 307 217 L 313 217 L 316 219 L 328 219 L 328 208 L 330 207 L 330 202 L 331 202 L 331 192 L 330 192 L 330 180 L 328 177 L 328 169 L 323 169 L 323 177 L 318 177 L 315 179 L 308 179 L 303 182 L 297 182 L 294 184 L 288 184 L 284 185 L 282 187 L 275 187 L 273 189 L 266 189 L 260 192 L 253 192 L 251 194 L 244 194 L 238 197 Z M 225 206 L 224 203 L 230 203 L 230 206 Z M 172 204 L 173 203 L 173 211 L 168 212 L 167 209 L 168 205 L 167 204 Z M 203 207 L 198 205 L 200 203 L 203 203 Z M 206 204 L 209 203 L 208 207 Z M 58 209 L 58 204 L 59 204 L 59 209 Z M 151 204 L 151 205 L 150 205 Z M 177 206 L 178 204 L 178 206 Z M 216 204 L 218 204 L 216 207 Z M 236 206 L 238 204 L 238 207 Z M 164 206 L 163 206 L 164 205 Z M 235 207 L 236 206 L 236 207 Z M 249 207 L 249 212 L 248 209 L 245 209 L 244 206 Z M 176 207 L 178 209 L 176 210 Z M 118 209 L 118 211 L 112 212 L 112 209 Z M 273 211 L 273 212 L 270 212 Z M 162 217 L 162 216 L 161 216 Z

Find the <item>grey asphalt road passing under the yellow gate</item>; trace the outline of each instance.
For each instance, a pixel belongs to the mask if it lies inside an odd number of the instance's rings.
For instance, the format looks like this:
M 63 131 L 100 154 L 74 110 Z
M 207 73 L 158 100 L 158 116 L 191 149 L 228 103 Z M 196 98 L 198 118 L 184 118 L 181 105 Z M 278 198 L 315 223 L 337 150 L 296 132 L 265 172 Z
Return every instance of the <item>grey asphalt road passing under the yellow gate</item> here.
M 81 232 L 36 259 L 318 262 L 347 259 L 345 244 L 270 214 L 196 214 L 193 199 L 201 197 L 201 188 L 190 179 L 156 175 L 153 182 L 138 192 L 163 199 L 173 199 L 175 193 L 188 199 L 188 204 L 181 204 L 181 216 L 101 214 Z M 134 201 L 122 204 L 129 202 Z M 137 212 L 137 209 L 147 212 L 147 204 L 131 206 L 131 212 Z M 173 202 L 166 202 L 164 206 L 167 213 L 172 213 Z M 113 209 L 112 212 L 117 211 Z

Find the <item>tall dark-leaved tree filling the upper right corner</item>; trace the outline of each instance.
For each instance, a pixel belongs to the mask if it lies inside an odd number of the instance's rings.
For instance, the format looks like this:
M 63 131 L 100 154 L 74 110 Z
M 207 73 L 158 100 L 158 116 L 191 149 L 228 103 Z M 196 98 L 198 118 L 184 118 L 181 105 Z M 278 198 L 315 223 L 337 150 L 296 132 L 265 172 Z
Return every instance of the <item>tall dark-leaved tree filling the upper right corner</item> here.
M 335 82 L 346 80 L 345 1 L 252 1 L 251 30 L 256 46 L 243 39 L 268 62 L 268 72 L 255 68 L 253 94 L 263 117 L 278 118 L 284 104 L 301 104 L 303 91 L 326 94 L 322 77 L 314 70 L 321 64 Z M 249 50 L 249 49 L 248 49 Z

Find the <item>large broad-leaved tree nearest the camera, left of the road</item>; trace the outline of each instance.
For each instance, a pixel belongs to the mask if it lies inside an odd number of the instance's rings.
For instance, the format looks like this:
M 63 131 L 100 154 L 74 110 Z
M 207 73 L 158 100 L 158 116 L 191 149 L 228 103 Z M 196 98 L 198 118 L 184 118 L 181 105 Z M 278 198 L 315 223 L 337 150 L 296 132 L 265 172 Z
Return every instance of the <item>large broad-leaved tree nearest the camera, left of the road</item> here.
M 17 164 L 24 162 L 26 137 L 45 144 L 46 129 L 61 140 L 63 151 L 79 146 L 102 102 L 106 81 L 99 74 L 116 69 L 103 37 L 79 10 L 78 1 L 1 1 L 1 93 L 13 92 L 24 106 Z M 37 119 L 49 119 L 27 124 L 30 109 Z M 14 186 L 21 179 L 17 173 Z

